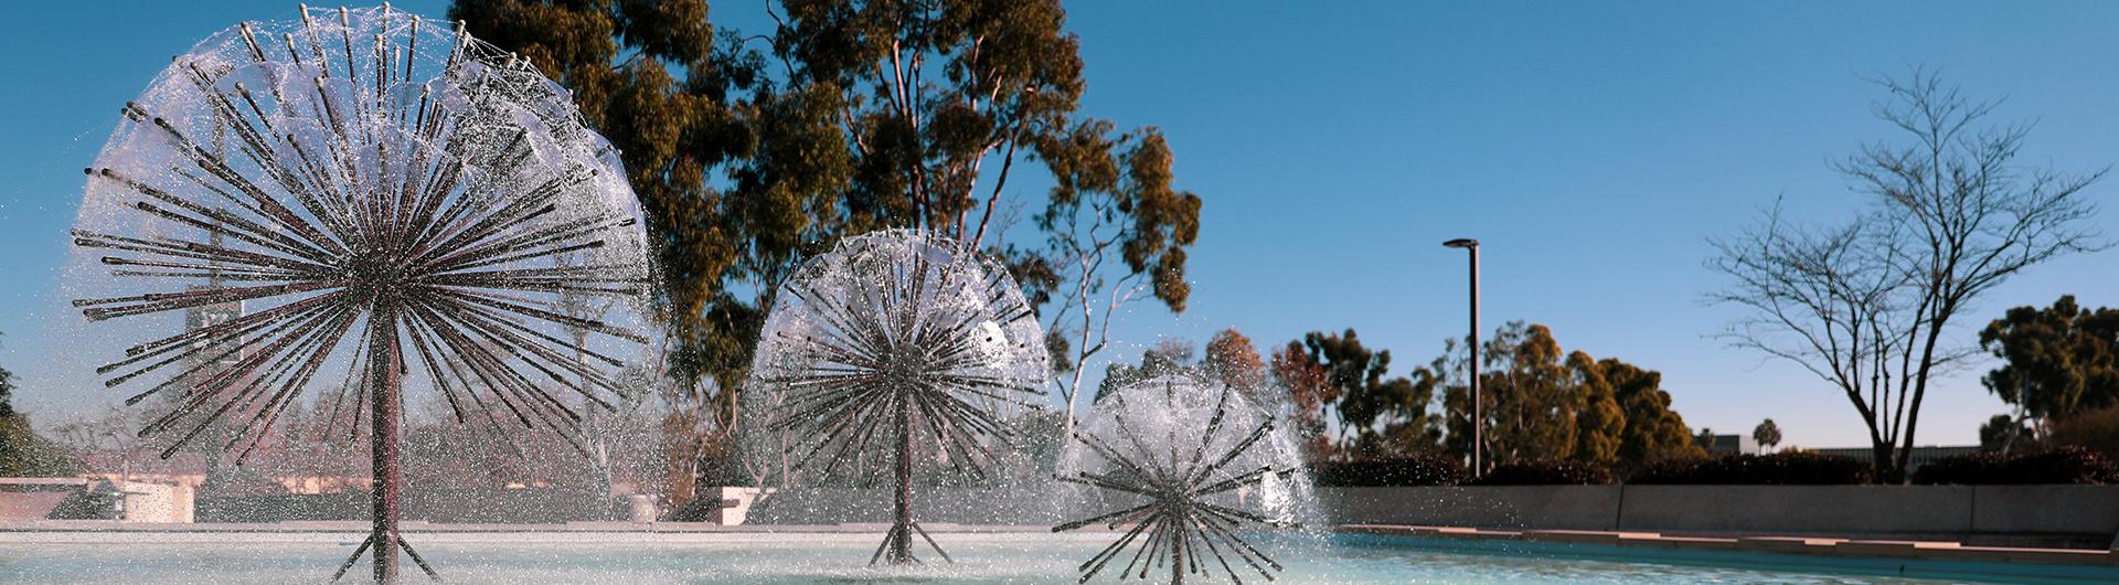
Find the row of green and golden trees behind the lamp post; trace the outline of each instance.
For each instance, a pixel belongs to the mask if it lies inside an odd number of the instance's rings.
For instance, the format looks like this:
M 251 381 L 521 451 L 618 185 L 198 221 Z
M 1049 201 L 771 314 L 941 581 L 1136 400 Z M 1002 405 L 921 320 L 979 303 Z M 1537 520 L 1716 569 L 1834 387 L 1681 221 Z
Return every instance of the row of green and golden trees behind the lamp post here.
M 1504 324 L 1483 350 L 1483 439 L 1494 464 L 1570 460 L 1632 471 L 1706 454 L 1670 409 L 1661 373 L 1587 352 L 1562 358 L 1543 324 Z M 1473 435 L 1466 358 L 1464 345 L 1449 339 L 1443 356 L 1388 377 L 1390 352 L 1365 348 L 1348 329 L 1276 348 L 1267 373 L 1274 396 L 1290 405 L 1312 460 L 1422 454 L 1466 460 Z M 1430 411 L 1437 403 L 1441 409 Z M 1337 418 L 1337 441 L 1324 437 L 1326 415 Z

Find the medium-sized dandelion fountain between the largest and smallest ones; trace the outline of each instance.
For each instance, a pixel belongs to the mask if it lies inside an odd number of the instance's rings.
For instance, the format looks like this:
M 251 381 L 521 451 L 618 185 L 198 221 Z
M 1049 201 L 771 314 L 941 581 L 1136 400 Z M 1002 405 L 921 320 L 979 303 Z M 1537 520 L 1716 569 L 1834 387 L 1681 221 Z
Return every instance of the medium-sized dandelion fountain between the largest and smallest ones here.
M 918 562 L 913 534 L 949 560 L 913 521 L 913 468 L 985 477 L 1043 396 L 1043 339 L 994 259 L 920 231 L 848 237 L 778 292 L 744 398 L 769 439 L 752 443 L 790 475 L 890 475 L 896 515 L 869 564 Z

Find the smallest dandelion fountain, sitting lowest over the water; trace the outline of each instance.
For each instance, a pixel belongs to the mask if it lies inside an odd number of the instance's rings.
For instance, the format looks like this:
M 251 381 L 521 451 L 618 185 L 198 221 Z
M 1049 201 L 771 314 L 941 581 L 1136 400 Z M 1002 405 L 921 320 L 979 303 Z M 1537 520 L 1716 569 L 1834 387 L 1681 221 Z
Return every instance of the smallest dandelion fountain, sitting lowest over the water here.
M 1299 468 L 1267 411 L 1204 375 L 1161 373 L 1119 388 L 1076 428 L 1057 479 L 1087 492 L 1079 500 L 1093 515 L 1053 532 L 1096 524 L 1119 532 L 1079 566 L 1083 583 L 1119 557 L 1127 557 L 1119 579 L 1159 572 L 1185 583 L 1218 566 L 1244 583 L 1233 557 L 1271 581 L 1280 562 L 1244 534 L 1297 526 L 1297 502 L 1310 500 Z

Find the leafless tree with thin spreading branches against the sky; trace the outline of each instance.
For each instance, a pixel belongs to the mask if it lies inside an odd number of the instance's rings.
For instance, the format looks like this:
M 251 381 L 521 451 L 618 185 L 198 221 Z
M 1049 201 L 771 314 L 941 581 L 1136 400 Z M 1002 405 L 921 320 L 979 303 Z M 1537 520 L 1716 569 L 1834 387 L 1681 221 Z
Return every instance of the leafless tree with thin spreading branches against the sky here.
M 1871 208 L 1839 227 L 1761 223 L 1714 240 L 1710 299 L 1748 309 L 1721 337 L 1801 365 L 1846 392 L 1875 466 L 1903 479 L 1928 382 L 1973 356 L 1949 320 L 2026 267 L 2106 248 L 2083 191 L 2104 172 L 2017 161 L 2030 125 L 1990 125 L 1998 102 L 1913 70 L 1880 78 L 1875 117 L 1905 131 L 1833 167 Z

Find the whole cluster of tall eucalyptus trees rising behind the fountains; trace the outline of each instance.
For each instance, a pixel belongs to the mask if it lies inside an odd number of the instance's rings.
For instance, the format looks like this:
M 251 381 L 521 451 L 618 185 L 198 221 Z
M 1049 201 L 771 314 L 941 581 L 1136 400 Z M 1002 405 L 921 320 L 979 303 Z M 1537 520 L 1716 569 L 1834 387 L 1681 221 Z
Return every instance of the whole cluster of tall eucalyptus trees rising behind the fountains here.
M 1185 309 L 1201 201 L 1174 189 L 1161 131 L 1076 112 L 1081 40 L 1055 0 L 767 8 L 776 25 L 750 36 L 714 28 L 704 0 L 449 8 L 572 89 L 619 148 L 661 244 L 672 373 L 687 392 L 699 379 L 720 390 L 714 420 L 733 422 L 727 390 L 744 379 L 778 284 L 854 233 L 930 229 L 1007 256 L 1051 322 L 1062 371 L 1104 343 L 1089 341 L 1089 318 L 1064 320 L 1072 312 L 1051 303 L 1129 299 L 1104 286 L 1144 280 Z M 1043 206 L 1002 201 L 1019 161 L 1055 178 Z M 1047 244 L 998 244 L 1007 208 L 1032 210 Z

